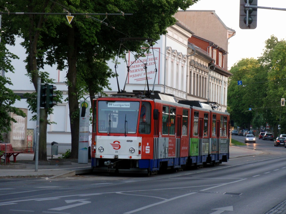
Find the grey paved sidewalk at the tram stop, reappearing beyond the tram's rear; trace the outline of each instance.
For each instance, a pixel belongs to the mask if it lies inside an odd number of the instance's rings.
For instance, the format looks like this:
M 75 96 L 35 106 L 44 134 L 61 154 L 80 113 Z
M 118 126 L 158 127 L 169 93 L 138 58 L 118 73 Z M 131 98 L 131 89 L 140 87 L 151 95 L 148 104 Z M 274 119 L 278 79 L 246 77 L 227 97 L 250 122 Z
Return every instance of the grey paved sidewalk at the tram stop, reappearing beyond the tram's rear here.
M 250 148 L 248 149 L 246 146 L 229 147 L 230 159 L 259 154 L 262 154 L 262 152 Z M 38 170 L 35 171 L 35 161 L 33 161 L 34 154 L 21 153 L 17 156 L 17 163 L 13 163 L 12 158 L 9 165 L 0 165 L 0 179 L 9 177 L 39 177 L 53 179 L 72 177 L 74 175 L 92 171 L 90 162 L 78 163 L 78 160 L 65 159 L 58 161 L 58 157 L 59 156 L 53 156 L 53 160 L 51 160 L 51 157 L 47 157 L 49 161 L 39 161 Z

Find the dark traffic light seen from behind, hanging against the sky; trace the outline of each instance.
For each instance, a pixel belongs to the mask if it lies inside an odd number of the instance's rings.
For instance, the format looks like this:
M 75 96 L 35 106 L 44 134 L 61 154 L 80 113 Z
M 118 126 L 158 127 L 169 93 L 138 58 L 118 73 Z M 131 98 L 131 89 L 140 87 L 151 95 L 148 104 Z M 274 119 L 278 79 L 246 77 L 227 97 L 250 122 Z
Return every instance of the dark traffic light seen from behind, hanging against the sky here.
M 257 26 L 257 8 L 245 7 L 256 6 L 257 0 L 240 0 L 239 27 L 241 29 L 255 29 Z

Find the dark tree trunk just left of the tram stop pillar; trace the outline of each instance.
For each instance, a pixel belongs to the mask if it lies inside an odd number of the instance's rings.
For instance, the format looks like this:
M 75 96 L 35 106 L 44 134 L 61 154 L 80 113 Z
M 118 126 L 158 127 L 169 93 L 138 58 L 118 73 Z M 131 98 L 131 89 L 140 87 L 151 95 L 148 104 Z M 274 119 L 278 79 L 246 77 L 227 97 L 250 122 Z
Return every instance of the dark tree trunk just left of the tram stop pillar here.
M 69 120 L 72 136 L 71 158 L 78 158 L 78 140 L 79 140 L 79 104 L 78 92 L 76 88 L 76 51 L 77 41 L 75 40 L 75 27 L 68 28 L 68 51 L 67 51 L 67 80 L 68 80 L 68 102 L 69 102 Z

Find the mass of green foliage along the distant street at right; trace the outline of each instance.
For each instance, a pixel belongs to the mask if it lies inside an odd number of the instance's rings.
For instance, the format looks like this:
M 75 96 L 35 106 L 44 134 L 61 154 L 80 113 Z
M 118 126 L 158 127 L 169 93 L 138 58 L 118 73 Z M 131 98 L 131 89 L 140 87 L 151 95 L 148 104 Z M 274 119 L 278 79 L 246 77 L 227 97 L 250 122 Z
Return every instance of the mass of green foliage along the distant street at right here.
M 261 57 L 242 59 L 230 72 L 228 110 L 236 124 L 242 128 L 280 124 L 285 132 L 286 109 L 280 102 L 286 98 L 286 42 L 272 35 L 265 41 Z M 245 87 L 238 86 L 238 80 Z M 250 107 L 252 111 L 248 111 Z

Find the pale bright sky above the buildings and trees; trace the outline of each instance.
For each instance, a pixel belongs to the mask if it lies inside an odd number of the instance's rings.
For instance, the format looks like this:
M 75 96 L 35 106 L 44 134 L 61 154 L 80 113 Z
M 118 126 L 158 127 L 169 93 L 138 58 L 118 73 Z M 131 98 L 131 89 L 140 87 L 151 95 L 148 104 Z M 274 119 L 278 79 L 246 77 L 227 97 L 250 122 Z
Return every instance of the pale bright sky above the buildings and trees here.
M 228 68 L 242 58 L 262 55 L 265 41 L 274 35 L 286 39 L 286 11 L 257 9 L 256 29 L 239 28 L 239 0 L 200 0 L 189 10 L 214 10 L 225 25 L 236 31 L 229 39 Z M 258 6 L 286 9 L 286 0 L 258 0 Z M 196 32 L 194 32 L 196 33 Z

